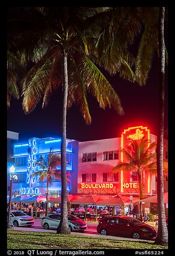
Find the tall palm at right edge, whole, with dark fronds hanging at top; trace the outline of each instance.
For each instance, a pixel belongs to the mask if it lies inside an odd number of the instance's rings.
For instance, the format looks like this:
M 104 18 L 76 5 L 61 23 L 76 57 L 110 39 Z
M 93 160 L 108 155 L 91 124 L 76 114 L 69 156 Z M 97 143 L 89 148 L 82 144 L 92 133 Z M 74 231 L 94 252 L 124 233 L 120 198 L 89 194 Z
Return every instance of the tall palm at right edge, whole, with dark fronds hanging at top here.
M 111 9 L 112 13 L 116 13 L 115 8 Z M 113 12 L 114 11 L 114 12 Z M 167 244 L 167 227 L 165 222 L 165 210 L 164 210 L 164 184 L 163 184 L 163 130 L 164 130 L 164 68 L 165 64 L 167 64 L 167 51 L 164 42 L 164 29 L 167 27 L 167 8 L 164 7 L 126 7 L 123 8 L 122 11 L 127 13 L 128 11 L 128 19 L 123 19 L 123 23 L 121 27 L 126 27 L 126 34 L 123 38 L 120 37 L 120 29 L 113 25 L 113 29 L 104 31 L 101 33 L 101 38 L 112 39 L 110 44 L 107 45 L 107 58 L 105 60 L 107 65 L 107 70 L 111 72 L 111 74 L 115 74 L 118 66 L 123 65 L 125 60 L 127 61 L 127 65 L 124 65 L 122 77 L 129 78 L 132 72 L 127 72 L 132 69 L 134 75 L 130 77 L 131 82 L 137 82 L 140 86 L 145 85 L 147 79 L 149 77 L 149 72 L 152 67 L 152 60 L 155 57 L 155 52 L 159 58 L 159 120 L 158 120 L 158 132 L 157 132 L 157 177 L 158 177 L 158 215 L 159 215 L 159 232 L 155 243 Z M 118 15 L 116 14 L 116 17 Z M 124 16 L 127 17 L 127 16 Z M 113 22 L 114 18 L 111 15 L 111 22 Z M 165 22 L 164 22 L 165 20 Z M 131 27 L 131 25 L 133 25 Z M 130 27 L 129 27 L 130 26 Z M 129 28 L 129 29 L 128 29 Z M 107 36 L 104 37 L 104 34 L 107 33 Z M 113 34 L 113 37 L 110 34 Z M 128 33 L 128 34 L 127 34 Z M 123 40 L 123 44 L 130 40 L 130 42 L 134 42 L 136 39 L 136 48 L 138 51 L 136 54 L 132 56 L 132 54 L 128 55 L 128 59 L 123 58 L 123 60 L 118 59 L 120 53 L 123 51 L 120 50 L 119 40 Z M 101 44 L 103 45 L 103 44 Z M 126 45 L 127 46 L 127 45 Z M 132 48 L 130 48 L 132 50 Z M 131 51 L 133 52 L 133 51 Z M 127 56 L 127 55 L 126 55 Z M 120 60 L 120 61 L 119 61 Z M 103 60 L 104 61 L 104 60 Z M 128 76 L 129 75 L 129 76 Z

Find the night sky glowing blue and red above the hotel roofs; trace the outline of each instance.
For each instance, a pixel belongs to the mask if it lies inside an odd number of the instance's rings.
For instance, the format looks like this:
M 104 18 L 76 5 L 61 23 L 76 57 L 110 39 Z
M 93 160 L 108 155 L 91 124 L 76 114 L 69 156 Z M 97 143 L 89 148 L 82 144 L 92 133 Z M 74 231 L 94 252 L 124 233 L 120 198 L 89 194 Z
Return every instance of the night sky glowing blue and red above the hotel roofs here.
M 90 96 L 89 106 L 92 117 L 91 125 L 86 125 L 81 113 L 72 106 L 67 112 L 67 138 L 79 141 L 121 137 L 121 132 L 132 126 L 147 126 L 152 134 L 157 134 L 158 127 L 158 62 L 152 63 L 147 84 L 143 87 L 122 80 L 119 75 L 108 77 L 118 93 L 124 116 L 119 116 L 114 109 L 100 109 L 96 99 Z M 165 77 L 165 123 L 167 130 L 167 75 Z M 45 109 L 41 103 L 30 114 L 25 114 L 21 99 L 12 99 L 7 111 L 7 129 L 19 133 L 19 141 L 29 138 L 61 137 L 60 93 L 54 93 Z

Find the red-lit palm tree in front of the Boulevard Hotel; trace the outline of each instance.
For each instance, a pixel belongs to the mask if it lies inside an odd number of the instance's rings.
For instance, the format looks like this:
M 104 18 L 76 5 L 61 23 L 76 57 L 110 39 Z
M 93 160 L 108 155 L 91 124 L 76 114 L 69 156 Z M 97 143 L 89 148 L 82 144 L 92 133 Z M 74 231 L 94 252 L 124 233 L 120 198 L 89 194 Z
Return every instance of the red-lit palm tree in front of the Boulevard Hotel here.
M 121 152 L 125 155 L 126 162 L 119 162 L 112 170 L 112 173 L 121 170 L 123 170 L 123 172 L 133 170 L 137 172 L 140 200 L 144 197 L 143 174 L 148 173 L 148 175 L 156 175 L 156 153 L 152 152 L 155 148 L 156 143 L 150 143 L 150 141 L 144 137 L 141 140 L 130 140 L 126 150 L 124 148 L 121 149 Z M 165 168 L 165 173 L 166 172 L 167 168 Z M 142 221 L 142 209 L 140 212 Z

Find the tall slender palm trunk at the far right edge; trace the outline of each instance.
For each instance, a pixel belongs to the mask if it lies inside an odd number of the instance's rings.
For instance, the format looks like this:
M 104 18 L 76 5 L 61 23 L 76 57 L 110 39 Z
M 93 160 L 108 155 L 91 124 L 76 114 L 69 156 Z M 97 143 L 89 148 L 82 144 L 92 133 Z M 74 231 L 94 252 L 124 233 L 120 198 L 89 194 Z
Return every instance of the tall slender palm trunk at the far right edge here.
M 163 139 L 164 139 L 164 76 L 165 76 L 165 47 L 164 47 L 164 12 L 159 8 L 159 113 L 157 133 L 157 210 L 158 231 L 155 244 L 167 246 L 168 232 L 165 221 L 164 208 L 164 180 L 163 180 Z

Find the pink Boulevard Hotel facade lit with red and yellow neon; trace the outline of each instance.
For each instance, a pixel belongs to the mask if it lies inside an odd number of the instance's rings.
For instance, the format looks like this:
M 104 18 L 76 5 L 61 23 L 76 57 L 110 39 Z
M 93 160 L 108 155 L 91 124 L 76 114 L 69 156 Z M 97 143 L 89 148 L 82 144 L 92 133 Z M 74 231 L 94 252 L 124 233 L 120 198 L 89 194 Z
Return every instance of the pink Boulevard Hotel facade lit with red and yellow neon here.
M 126 194 L 138 195 L 138 178 L 136 171 L 111 174 L 116 164 L 125 156 L 120 153 L 121 147 L 129 144 L 130 138 L 145 137 L 151 142 L 157 136 L 150 133 L 147 127 L 130 127 L 122 132 L 120 138 L 79 142 L 78 145 L 78 184 L 77 193 L 89 194 Z M 164 139 L 164 157 L 167 158 L 167 140 Z M 143 174 L 145 194 L 157 193 L 157 182 L 154 175 Z M 167 177 L 164 181 L 167 191 Z

